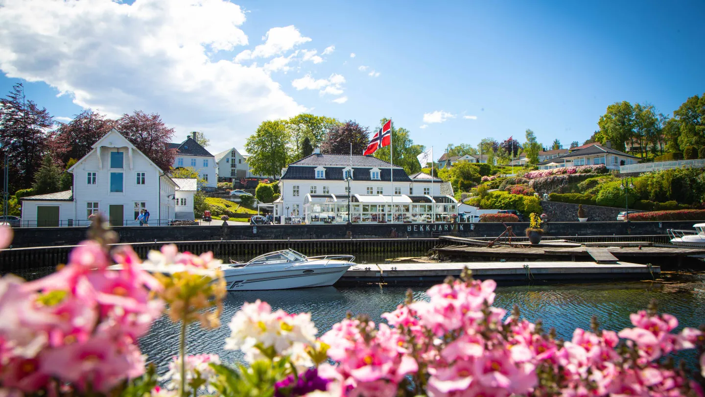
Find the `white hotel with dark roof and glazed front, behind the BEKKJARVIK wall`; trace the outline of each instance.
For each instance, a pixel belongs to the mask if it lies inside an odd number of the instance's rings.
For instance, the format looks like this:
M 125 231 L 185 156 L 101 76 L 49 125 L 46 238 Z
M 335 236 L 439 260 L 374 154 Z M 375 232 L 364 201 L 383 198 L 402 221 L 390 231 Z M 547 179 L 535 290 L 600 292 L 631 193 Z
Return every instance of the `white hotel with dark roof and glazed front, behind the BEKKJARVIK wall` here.
M 457 214 L 458 201 L 441 193 L 442 184 L 431 177 L 412 179 L 402 167 L 372 156 L 314 153 L 282 170 L 274 218 L 340 223 L 350 211 L 353 223 L 447 222 Z

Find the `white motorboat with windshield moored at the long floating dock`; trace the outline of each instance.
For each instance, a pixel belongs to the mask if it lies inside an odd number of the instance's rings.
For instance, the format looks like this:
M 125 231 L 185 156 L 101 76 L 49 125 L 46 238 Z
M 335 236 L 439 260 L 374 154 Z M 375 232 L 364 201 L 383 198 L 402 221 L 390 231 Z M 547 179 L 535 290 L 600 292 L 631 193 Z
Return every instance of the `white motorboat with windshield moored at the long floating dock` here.
M 284 249 L 221 269 L 229 291 L 286 290 L 333 285 L 354 260 L 353 255 L 305 256 Z

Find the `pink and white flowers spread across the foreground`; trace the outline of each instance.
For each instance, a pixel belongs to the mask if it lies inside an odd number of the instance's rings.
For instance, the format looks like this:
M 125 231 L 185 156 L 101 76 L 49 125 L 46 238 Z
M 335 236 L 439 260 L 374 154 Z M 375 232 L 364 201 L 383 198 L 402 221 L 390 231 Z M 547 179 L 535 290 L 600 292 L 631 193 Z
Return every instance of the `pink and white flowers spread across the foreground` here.
M 408 292 L 382 314 L 387 324 L 348 315 L 320 338 L 310 314 L 245 303 L 226 349 L 242 350 L 246 365 L 185 356 L 182 331 L 180 354 L 157 379 L 135 340 L 163 302 L 182 330 L 191 321 L 217 326 L 203 309 L 219 307 L 219 261 L 165 246 L 141 264 L 130 249 L 109 251 L 115 235 L 101 224 L 56 273 L 30 283 L 0 279 L 0 396 L 703 395 L 704 333 L 673 333 L 678 320 L 658 314 L 654 302 L 631 314 L 632 328 L 601 330 L 593 317 L 591 331 L 577 328 L 564 342 L 516 307 L 510 316 L 492 307 L 496 283 L 472 280 L 467 269 L 431 287 L 428 302 Z M 10 240 L 0 227 L 0 247 Z M 144 268 L 171 275 L 154 278 Z M 697 372 L 664 359 L 693 348 Z

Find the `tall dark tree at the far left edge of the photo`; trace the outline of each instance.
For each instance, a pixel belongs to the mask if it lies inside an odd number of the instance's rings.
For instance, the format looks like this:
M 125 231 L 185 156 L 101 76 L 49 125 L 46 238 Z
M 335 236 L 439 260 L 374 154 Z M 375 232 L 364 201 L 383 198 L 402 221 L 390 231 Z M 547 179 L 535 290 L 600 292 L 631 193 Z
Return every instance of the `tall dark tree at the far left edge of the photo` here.
M 7 97 L 0 99 L 0 158 L 10 160 L 12 188 L 32 185 L 35 173 L 47 153 L 54 120 L 46 108 L 25 97 L 22 83 L 13 85 Z

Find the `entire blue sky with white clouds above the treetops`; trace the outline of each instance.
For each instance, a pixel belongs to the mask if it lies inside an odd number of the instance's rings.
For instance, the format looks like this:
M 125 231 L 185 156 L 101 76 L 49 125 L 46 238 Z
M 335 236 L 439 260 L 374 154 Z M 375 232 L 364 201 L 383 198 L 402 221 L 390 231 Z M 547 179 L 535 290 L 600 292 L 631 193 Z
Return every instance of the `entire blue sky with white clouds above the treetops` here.
M 486 137 L 568 146 L 608 105 L 705 93 L 705 2 L 0 0 L 0 95 L 67 122 L 161 114 L 243 150 L 266 119 L 383 117 L 439 158 Z

